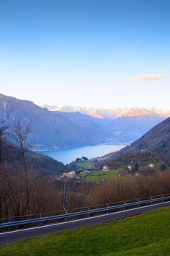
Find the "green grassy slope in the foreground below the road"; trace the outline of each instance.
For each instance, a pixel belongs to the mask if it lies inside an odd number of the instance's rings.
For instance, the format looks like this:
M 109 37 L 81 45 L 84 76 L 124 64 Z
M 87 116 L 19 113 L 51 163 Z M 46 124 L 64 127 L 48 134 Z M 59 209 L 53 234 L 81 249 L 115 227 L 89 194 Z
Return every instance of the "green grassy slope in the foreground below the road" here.
M 170 255 L 170 208 L 0 247 L 0 255 Z

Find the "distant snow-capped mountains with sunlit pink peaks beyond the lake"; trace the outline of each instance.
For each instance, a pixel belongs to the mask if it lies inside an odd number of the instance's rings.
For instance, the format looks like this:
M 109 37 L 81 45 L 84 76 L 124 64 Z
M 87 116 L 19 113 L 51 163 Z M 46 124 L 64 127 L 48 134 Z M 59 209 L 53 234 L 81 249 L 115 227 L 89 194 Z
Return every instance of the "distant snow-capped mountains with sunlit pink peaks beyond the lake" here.
M 170 110 L 156 108 L 85 108 L 72 106 L 50 106 L 44 105 L 50 111 L 60 113 L 72 121 L 73 115 L 83 115 L 96 118 L 98 123 L 103 124 L 107 132 L 111 134 L 107 143 L 128 144 L 150 130 L 156 124 L 170 116 Z M 75 117 L 74 116 L 74 117 Z M 78 124 L 78 119 L 74 119 Z

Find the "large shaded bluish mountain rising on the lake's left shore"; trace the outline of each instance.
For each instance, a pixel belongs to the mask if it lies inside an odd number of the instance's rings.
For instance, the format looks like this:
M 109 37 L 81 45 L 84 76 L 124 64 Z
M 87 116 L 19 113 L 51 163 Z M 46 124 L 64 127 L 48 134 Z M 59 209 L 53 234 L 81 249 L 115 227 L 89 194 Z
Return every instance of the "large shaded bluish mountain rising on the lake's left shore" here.
M 39 150 L 104 143 L 113 131 L 107 121 L 81 113 L 56 113 L 34 102 L 0 94 L 0 120 L 13 127 L 15 121 L 31 124 L 30 140 Z

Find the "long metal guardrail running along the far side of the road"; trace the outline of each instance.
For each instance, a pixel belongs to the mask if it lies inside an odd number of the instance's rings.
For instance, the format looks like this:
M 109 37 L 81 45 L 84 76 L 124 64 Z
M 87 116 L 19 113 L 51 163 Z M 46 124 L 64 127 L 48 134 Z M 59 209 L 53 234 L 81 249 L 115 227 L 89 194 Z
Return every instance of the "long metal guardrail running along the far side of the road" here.
M 148 198 L 148 197 L 145 197 Z M 101 207 L 101 208 L 93 208 L 89 209 L 86 211 L 76 211 L 76 212 L 71 212 L 68 214 L 59 214 L 59 215 L 53 215 L 49 217 L 36 217 L 34 219 L 23 219 L 23 220 L 17 220 L 17 221 L 10 221 L 10 222 L 4 222 L 0 224 L 1 229 L 5 228 L 10 228 L 10 227 L 17 227 L 20 225 L 31 225 L 35 223 L 41 223 L 42 222 L 56 222 L 58 220 L 64 219 L 67 221 L 69 218 L 73 217 L 83 217 L 83 216 L 90 216 L 90 214 L 100 214 L 106 212 L 107 214 L 111 211 L 117 211 L 117 209 L 122 209 L 125 210 L 127 208 L 136 208 L 143 206 L 143 205 L 150 205 L 154 203 L 160 203 L 160 202 L 165 202 L 165 201 L 170 201 L 170 195 L 158 195 L 158 196 L 153 196 L 150 197 L 150 199 L 144 200 L 144 198 L 139 198 L 135 200 L 128 200 L 128 201 L 122 201 L 122 202 L 115 202 L 119 203 L 118 205 L 114 206 L 108 206 L 107 207 Z M 34 214 L 37 215 L 37 214 Z M 31 216 L 31 215 L 28 215 Z

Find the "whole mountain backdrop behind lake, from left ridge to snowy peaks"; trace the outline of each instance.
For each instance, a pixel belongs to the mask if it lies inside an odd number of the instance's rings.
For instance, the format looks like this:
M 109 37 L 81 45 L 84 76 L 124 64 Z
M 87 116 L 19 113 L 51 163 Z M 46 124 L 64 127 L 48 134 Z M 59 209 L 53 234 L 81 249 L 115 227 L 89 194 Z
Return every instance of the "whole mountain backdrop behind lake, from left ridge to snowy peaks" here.
M 72 108 L 70 112 L 64 107 L 57 111 L 53 107 L 44 107 L 0 94 L 0 120 L 4 120 L 9 127 L 15 121 L 31 124 L 29 139 L 39 151 L 99 143 L 128 144 L 169 115 L 169 112 L 163 110 L 100 109 L 98 112 L 91 108 L 91 112 L 85 113 L 81 109 L 77 111 L 77 108 Z M 114 113 L 112 118 L 109 114 L 111 112 Z

